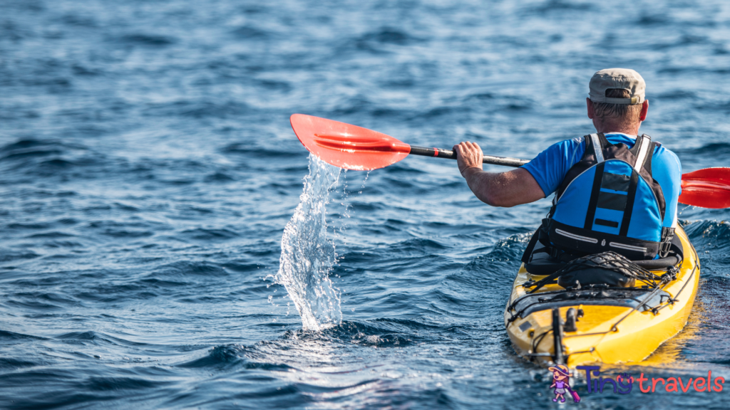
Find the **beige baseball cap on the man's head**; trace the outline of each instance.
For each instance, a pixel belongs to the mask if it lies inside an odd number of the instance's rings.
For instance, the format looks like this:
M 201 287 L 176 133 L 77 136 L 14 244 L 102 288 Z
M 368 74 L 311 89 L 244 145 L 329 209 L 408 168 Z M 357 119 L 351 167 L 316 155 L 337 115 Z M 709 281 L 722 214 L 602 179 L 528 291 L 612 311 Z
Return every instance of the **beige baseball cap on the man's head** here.
M 588 84 L 591 93 L 588 98 L 593 102 L 608 104 L 642 104 L 646 93 L 644 79 L 632 69 L 604 69 L 596 71 Z M 606 90 L 609 88 L 621 88 L 631 93 L 631 98 L 609 98 Z

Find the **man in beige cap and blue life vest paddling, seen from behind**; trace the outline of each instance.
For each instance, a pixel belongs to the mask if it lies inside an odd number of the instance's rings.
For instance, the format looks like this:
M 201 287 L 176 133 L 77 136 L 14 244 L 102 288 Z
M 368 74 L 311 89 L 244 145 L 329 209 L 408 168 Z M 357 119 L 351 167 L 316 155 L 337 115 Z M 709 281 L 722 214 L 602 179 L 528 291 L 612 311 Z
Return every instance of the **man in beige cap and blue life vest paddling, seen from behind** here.
M 631 69 L 596 72 L 585 101 L 597 134 L 553 144 L 519 169 L 485 172 L 479 145 L 454 146 L 461 175 L 486 204 L 515 206 L 556 193 L 524 261 L 538 240 L 562 261 L 609 250 L 631 260 L 669 252 L 682 172 L 674 152 L 638 137 L 649 109 L 645 88 Z

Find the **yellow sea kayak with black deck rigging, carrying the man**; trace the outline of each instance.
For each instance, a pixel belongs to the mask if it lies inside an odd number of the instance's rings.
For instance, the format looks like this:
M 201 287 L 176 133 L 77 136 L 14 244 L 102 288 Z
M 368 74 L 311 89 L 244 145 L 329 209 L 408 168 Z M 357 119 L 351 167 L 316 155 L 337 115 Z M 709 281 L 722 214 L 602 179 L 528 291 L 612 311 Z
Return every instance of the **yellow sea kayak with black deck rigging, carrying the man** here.
M 677 227 L 684 258 L 672 276 L 655 287 L 568 289 L 547 275 L 520 266 L 504 311 L 507 335 L 518 355 L 540 365 L 638 363 L 680 332 L 687 323 L 699 285 L 699 257 L 687 233 Z M 668 271 L 652 271 L 656 276 Z M 671 279 L 671 280 L 670 280 Z

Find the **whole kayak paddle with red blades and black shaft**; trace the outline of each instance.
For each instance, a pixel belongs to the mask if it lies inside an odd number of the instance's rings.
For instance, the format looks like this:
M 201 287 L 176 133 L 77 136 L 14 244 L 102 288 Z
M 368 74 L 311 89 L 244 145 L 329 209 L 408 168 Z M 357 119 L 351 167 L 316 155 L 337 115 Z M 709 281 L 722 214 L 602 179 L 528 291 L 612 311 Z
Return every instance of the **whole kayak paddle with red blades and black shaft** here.
M 408 155 L 456 159 L 453 150 L 415 147 L 392 136 L 311 115 L 294 114 L 291 127 L 301 144 L 321 160 L 344 169 L 384 168 Z M 529 160 L 484 155 L 484 163 L 519 167 Z M 730 168 L 706 168 L 682 175 L 680 203 L 702 208 L 730 207 Z

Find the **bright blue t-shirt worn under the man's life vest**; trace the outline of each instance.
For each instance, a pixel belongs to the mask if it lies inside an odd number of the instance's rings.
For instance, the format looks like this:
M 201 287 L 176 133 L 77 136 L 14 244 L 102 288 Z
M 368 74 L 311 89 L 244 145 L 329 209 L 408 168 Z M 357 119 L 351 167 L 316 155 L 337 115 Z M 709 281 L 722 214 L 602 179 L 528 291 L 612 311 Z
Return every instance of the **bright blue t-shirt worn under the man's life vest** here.
M 627 147 L 634 147 L 636 136 L 626 134 L 606 134 L 606 139 L 611 144 L 626 144 Z M 542 188 L 545 197 L 558 190 L 568 170 L 572 168 L 585 153 L 585 139 L 583 137 L 566 139 L 548 147 L 540 152 L 537 157 L 526 163 L 522 168 L 529 171 L 537 184 Z M 667 150 L 661 144 L 657 144 L 651 158 L 651 173 L 656 182 L 659 182 L 666 211 L 662 226 L 674 226 L 677 216 L 677 199 L 682 193 L 682 166 L 674 152 Z

